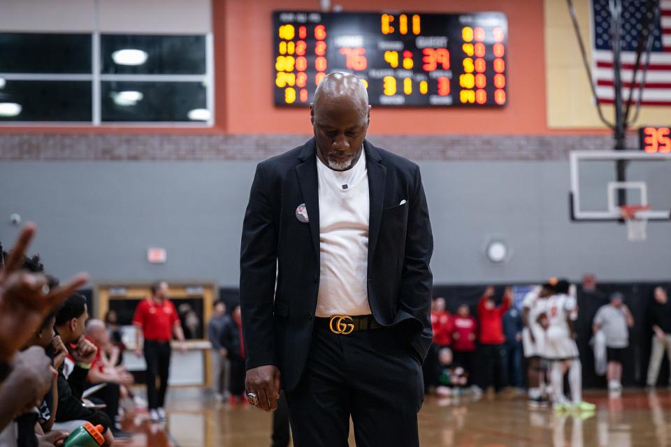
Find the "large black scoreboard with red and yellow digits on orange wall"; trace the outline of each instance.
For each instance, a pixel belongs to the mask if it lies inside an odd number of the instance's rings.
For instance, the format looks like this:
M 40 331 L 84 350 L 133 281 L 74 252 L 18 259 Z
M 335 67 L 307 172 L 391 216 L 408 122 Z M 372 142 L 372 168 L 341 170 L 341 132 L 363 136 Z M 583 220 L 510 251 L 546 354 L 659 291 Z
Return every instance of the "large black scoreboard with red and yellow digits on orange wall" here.
M 275 105 L 305 106 L 327 73 L 363 80 L 373 105 L 503 106 L 503 13 L 273 13 Z

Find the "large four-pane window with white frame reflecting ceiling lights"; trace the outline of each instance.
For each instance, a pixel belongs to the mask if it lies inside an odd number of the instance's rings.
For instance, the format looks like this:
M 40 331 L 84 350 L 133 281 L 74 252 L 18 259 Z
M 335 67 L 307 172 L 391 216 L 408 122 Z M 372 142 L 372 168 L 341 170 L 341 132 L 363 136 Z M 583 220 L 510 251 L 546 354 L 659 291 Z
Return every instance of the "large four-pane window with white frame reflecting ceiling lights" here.
M 0 34 L 0 123 L 212 125 L 209 35 Z

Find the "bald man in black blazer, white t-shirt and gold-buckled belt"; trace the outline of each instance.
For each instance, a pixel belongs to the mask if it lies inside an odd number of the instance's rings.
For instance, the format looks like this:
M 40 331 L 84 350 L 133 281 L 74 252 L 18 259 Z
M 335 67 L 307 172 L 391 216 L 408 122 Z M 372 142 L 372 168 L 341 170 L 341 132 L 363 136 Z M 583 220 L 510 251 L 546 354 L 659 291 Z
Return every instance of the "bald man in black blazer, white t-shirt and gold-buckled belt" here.
M 246 391 L 280 383 L 296 447 L 419 446 L 433 236 L 419 167 L 368 142 L 359 78 L 326 76 L 305 145 L 259 163 L 240 254 Z

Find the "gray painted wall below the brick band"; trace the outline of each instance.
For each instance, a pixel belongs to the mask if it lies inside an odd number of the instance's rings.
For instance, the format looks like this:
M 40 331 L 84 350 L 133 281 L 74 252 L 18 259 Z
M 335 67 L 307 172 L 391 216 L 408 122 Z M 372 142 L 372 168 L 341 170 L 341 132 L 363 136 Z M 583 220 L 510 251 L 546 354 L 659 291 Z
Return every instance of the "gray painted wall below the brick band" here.
M 208 280 L 236 286 L 251 161 L 3 162 L 0 240 L 17 235 L 13 212 L 38 223 L 32 251 L 48 270 L 94 282 Z M 651 223 L 647 242 L 628 242 L 616 223 L 571 223 L 568 163 L 421 162 L 431 210 L 437 284 L 579 279 L 668 279 L 671 223 Z M 502 237 L 512 258 L 484 256 Z M 168 262 L 150 265 L 148 247 Z

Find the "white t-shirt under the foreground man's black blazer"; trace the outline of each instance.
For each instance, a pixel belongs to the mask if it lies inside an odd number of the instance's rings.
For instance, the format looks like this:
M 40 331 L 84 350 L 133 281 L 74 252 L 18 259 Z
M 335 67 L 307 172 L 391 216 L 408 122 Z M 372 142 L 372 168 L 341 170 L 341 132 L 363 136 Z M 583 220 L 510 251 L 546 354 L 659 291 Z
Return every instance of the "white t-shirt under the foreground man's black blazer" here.
M 332 170 L 317 157 L 317 179 L 321 279 L 315 315 L 369 315 L 366 154 L 345 171 Z

